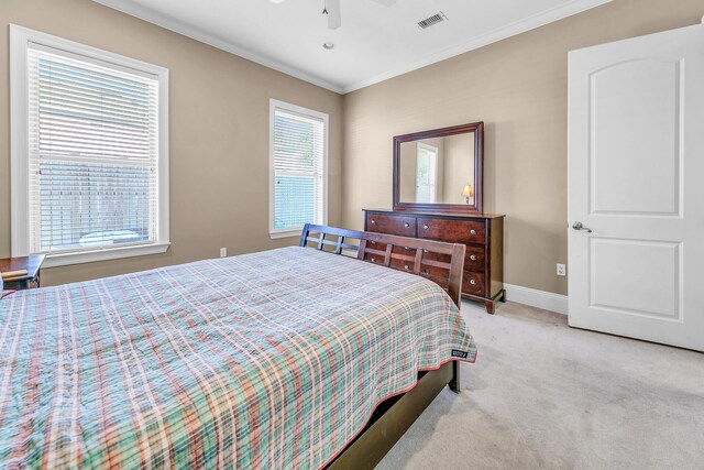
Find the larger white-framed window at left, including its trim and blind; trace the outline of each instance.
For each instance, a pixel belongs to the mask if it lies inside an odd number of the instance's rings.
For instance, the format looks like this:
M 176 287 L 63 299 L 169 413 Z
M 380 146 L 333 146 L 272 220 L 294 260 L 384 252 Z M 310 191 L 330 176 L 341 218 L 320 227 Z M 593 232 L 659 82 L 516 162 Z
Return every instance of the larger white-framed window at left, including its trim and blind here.
M 11 26 L 12 251 L 168 248 L 168 70 Z

